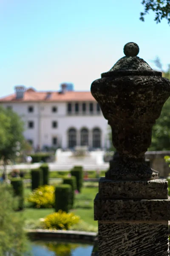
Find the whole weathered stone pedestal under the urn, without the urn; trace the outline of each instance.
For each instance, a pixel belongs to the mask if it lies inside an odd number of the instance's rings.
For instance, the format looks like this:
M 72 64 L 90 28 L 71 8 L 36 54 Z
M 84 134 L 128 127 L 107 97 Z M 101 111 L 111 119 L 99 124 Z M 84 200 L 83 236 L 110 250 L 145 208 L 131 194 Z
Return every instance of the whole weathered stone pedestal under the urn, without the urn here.
M 99 181 L 99 256 L 169 256 L 166 180 Z

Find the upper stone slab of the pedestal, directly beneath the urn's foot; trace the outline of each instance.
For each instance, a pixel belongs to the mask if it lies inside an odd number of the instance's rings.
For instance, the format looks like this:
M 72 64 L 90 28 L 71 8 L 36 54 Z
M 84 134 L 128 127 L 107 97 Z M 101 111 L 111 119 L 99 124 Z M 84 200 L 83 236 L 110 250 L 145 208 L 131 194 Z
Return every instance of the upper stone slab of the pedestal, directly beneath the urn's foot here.
M 99 198 L 167 199 L 167 180 L 99 180 Z

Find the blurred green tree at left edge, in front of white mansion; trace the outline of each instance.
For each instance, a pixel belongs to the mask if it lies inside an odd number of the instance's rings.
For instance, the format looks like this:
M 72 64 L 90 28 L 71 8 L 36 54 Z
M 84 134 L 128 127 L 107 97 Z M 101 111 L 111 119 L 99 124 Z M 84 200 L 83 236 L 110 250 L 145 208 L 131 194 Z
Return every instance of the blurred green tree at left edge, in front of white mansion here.
M 14 160 L 24 143 L 24 123 L 10 109 L 0 107 L 0 158 Z

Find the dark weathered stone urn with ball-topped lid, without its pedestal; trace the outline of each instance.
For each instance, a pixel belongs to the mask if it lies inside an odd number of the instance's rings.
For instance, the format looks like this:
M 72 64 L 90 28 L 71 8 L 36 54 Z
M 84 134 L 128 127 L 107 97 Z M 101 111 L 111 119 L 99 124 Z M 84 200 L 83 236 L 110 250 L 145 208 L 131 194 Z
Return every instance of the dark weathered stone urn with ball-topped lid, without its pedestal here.
M 124 53 L 125 57 L 91 84 L 91 93 L 111 125 L 112 142 L 119 153 L 106 178 L 157 179 L 159 172 L 144 162 L 144 153 L 151 143 L 152 127 L 170 96 L 170 81 L 137 57 L 137 44 L 125 44 Z

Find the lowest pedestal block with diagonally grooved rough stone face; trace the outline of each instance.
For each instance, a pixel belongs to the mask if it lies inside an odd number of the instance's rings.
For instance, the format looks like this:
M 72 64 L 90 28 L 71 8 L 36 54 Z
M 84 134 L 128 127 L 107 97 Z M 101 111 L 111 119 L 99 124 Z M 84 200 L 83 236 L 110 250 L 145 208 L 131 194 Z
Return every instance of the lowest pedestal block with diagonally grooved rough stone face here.
M 99 221 L 99 256 L 168 256 L 168 223 Z

